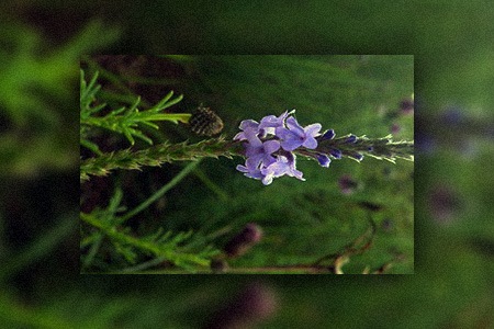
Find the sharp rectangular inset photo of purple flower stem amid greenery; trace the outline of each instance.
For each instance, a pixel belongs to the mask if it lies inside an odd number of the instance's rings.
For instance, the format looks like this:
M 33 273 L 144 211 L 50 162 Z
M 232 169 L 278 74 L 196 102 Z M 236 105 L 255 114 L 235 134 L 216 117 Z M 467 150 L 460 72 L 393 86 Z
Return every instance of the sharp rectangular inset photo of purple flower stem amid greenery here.
M 88 55 L 81 274 L 413 274 L 412 55 Z

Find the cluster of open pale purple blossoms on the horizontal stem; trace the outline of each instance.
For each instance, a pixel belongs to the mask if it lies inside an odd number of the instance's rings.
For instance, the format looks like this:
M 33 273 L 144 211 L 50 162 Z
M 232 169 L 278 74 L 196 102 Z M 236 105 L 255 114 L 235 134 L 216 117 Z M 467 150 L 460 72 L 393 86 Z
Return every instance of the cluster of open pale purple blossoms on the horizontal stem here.
M 274 178 L 290 175 L 304 181 L 303 173 L 295 168 L 296 156 L 292 152 L 297 148 L 315 149 L 322 128 L 321 124 L 302 127 L 291 116 L 295 110 L 285 111 L 280 116 L 265 116 L 260 123 L 245 120 L 240 123 L 242 133 L 235 140 L 247 140 L 245 166 L 238 164 L 237 170 L 248 178 L 261 180 L 269 185 Z M 329 166 L 329 158 L 319 155 L 319 163 Z

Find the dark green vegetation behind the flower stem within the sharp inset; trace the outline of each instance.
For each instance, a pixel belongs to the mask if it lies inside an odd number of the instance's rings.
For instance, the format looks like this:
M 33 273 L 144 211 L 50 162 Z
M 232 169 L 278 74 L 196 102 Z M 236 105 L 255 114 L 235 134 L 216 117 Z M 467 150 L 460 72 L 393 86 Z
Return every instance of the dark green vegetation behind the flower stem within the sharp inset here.
M 413 115 L 400 109 L 413 94 L 413 56 L 104 56 L 85 57 L 82 66 L 89 72 L 100 72 L 97 83 L 103 87 L 91 106 L 106 113 L 102 124 L 92 126 L 91 121 L 101 116 L 85 114 L 81 127 L 89 133 L 81 137 L 86 140 L 92 134 L 89 145 L 103 145 L 105 152 L 127 148 L 134 138 L 122 136 L 131 136 L 132 131 L 116 131 L 123 141 L 108 146 L 110 137 L 94 127 L 111 128 L 116 121 L 113 114 L 109 116 L 110 110 L 101 110 L 101 104 L 121 109 L 120 100 L 135 103 L 133 93 L 138 91 L 143 91 L 139 95 L 145 103 L 170 90 L 183 94 L 183 101 L 176 105 L 177 101 L 166 105 L 164 100 L 162 106 L 153 107 L 164 107 L 160 120 L 206 104 L 222 117 L 227 139 L 238 132 L 242 120 L 259 121 L 291 109 L 297 110 L 303 125 L 318 122 L 325 129 L 334 128 L 337 136 L 382 137 L 395 124 L 401 132 L 393 138 L 413 139 Z M 156 117 L 153 109 L 141 107 L 139 117 Z M 146 116 L 146 111 L 151 114 Z M 132 109 L 115 115 L 130 117 L 125 113 L 133 113 Z M 159 131 L 153 131 L 151 136 L 158 147 L 204 138 L 195 136 L 188 125 L 155 124 Z M 135 125 L 132 134 L 142 136 L 135 131 L 139 128 L 147 132 L 144 125 Z M 145 148 L 138 143 L 134 147 Z M 101 152 L 101 148 L 94 151 Z M 86 148 L 82 156 L 96 155 Z M 184 269 L 207 273 L 210 261 L 222 258 L 223 246 L 248 223 L 256 223 L 262 237 L 245 254 L 228 258 L 227 272 L 330 273 L 328 266 L 335 268 L 345 259 L 348 264 L 335 272 L 374 272 L 385 265 L 385 273 L 413 273 L 412 162 L 398 159 L 393 164 L 369 157 L 358 163 L 344 158 L 325 169 L 300 158 L 297 166 L 305 182 L 285 177 L 269 186 L 237 172 L 238 163 L 244 163 L 240 157 L 204 159 L 192 170 L 186 167 L 188 174 L 180 177 L 177 186 L 134 216 L 124 209 L 132 211 L 177 179 L 187 162 L 142 167 L 142 171 L 115 170 L 105 178 L 85 181 L 82 272 L 180 273 L 177 270 Z M 338 184 L 345 175 L 357 185 L 346 194 Z M 102 192 L 113 195 L 111 201 L 94 195 Z M 145 240 L 149 246 L 143 243 Z M 350 245 L 356 245 L 356 250 L 347 251 Z M 311 264 L 322 258 L 327 259 L 312 269 Z

